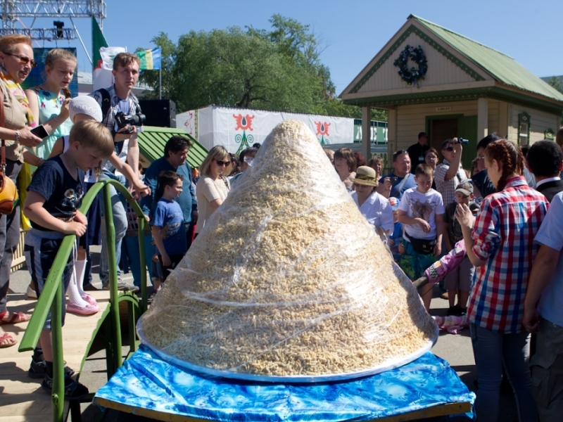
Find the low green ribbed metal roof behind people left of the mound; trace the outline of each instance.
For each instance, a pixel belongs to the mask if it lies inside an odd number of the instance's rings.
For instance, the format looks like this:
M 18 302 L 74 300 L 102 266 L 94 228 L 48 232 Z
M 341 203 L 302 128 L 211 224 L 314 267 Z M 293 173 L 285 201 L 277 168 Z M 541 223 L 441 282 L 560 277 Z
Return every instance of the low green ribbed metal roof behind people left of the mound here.
M 203 160 L 205 160 L 208 151 L 184 129 L 144 126 L 143 132 L 139 133 L 139 150 L 147 160 L 153 162 L 157 158 L 164 156 L 166 142 L 175 135 L 185 136 L 191 141 L 192 146 L 189 148 L 188 162 L 192 168 L 199 167 Z

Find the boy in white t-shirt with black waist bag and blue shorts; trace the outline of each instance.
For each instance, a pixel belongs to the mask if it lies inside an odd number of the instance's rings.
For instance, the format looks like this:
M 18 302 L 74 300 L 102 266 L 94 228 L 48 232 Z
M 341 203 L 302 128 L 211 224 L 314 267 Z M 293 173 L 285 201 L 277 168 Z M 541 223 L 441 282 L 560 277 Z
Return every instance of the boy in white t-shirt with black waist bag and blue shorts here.
M 444 204 L 442 196 L 432 188 L 434 170 L 419 164 L 415 170 L 416 188 L 407 189 L 399 203 L 398 219 L 405 226 L 403 255 L 399 266 L 415 281 L 430 267 L 442 252 Z M 422 301 L 430 309 L 432 289 L 426 288 Z

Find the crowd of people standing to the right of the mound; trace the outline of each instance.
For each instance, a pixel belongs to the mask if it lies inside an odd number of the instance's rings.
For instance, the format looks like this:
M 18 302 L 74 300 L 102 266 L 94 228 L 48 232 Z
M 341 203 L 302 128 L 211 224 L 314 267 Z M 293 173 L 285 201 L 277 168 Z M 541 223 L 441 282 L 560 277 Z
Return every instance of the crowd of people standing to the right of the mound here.
M 519 421 L 558 421 L 563 411 L 563 227 L 557 223 L 563 205 L 563 128 L 555 141 L 526 148 L 497 134 L 486 136 L 478 143 L 472 174 L 462 167 L 463 146 L 456 138 L 443 141 L 439 164 L 437 151 L 426 142 L 422 132 L 409 151 L 396 151 L 393 172 L 382 177 L 374 160 L 369 160 L 374 168 L 348 162 L 349 174 L 356 174 L 350 177 L 353 199 L 367 221 L 387 235 L 394 260 L 412 281 L 424 277 L 443 254 L 458 254 L 456 243 L 464 243 L 464 256 L 443 281 L 448 315 L 469 323 L 479 385 L 477 420 L 498 420 L 504 376 Z M 334 156 L 350 155 L 336 151 Z M 336 162 L 335 169 L 339 172 Z M 433 287 L 419 291 L 427 310 Z

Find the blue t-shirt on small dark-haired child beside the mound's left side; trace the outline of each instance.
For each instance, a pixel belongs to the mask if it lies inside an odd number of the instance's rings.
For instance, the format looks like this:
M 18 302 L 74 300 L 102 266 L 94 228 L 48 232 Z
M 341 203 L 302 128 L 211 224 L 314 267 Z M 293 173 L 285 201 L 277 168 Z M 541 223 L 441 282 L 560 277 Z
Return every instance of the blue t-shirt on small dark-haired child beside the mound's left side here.
M 152 224 L 164 229 L 163 243 L 168 255 L 184 255 L 187 252 L 184 213 L 177 202 L 160 198 L 154 209 Z

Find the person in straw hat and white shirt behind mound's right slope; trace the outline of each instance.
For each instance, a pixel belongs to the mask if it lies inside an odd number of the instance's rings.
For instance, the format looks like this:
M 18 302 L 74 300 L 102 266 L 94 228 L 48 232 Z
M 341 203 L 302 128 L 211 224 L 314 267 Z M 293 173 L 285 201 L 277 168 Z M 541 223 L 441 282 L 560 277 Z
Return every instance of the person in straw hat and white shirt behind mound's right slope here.
M 393 209 L 384 196 L 376 192 L 377 176 L 372 167 L 360 166 L 353 181 L 352 198 L 369 224 L 380 227 L 386 235 L 393 234 Z

